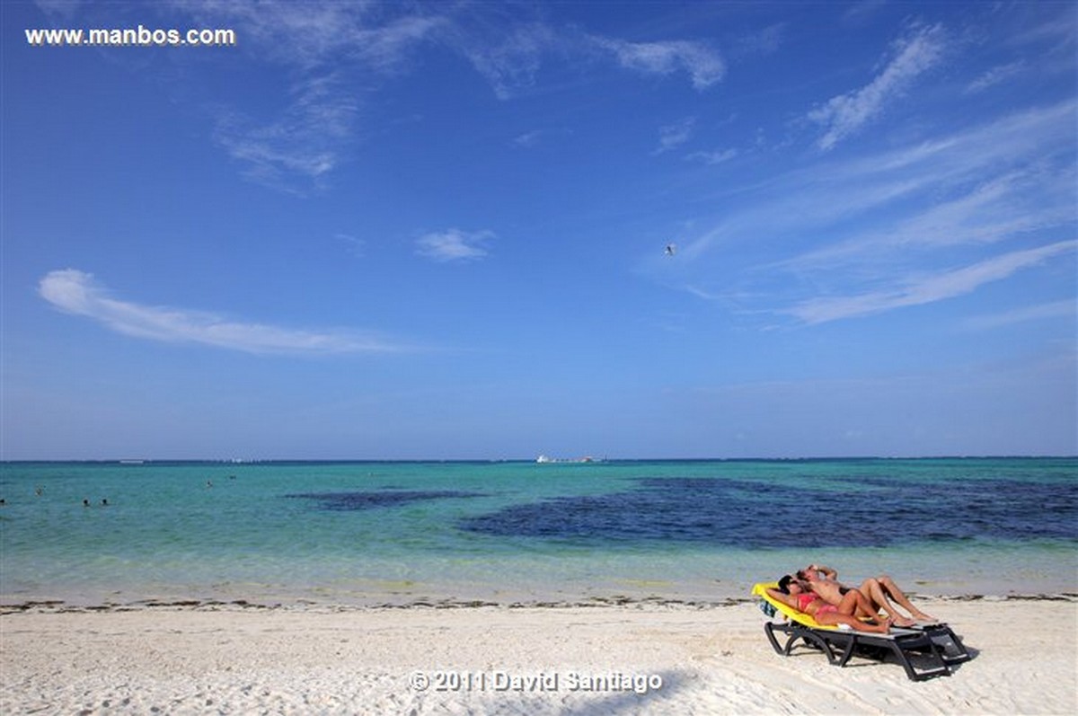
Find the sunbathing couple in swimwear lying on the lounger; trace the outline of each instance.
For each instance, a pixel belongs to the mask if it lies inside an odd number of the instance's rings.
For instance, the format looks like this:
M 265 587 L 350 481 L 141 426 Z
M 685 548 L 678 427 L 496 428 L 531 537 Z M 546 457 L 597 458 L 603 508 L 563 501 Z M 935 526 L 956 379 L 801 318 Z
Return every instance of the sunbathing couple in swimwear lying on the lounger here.
M 786 575 L 779 579 L 778 589 L 769 588 L 768 593 L 829 626 L 846 624 L 861 632 L 886 634 L 892 625 L 910 626 L 917 620 L 934 621 L 913 606 L 895 580 L 887 575 L 866 579 L 857 589 L 838 581 L 838 576 L 830 567 L 810 564 L 796 575 Z M 912 618 L 899 614 L 890 600 L 902 605 Z M 886 615 L 882 622 L 879 621 L 881 609 Z M 866 622 L 861 617 L 871 617 L 877 621 Z

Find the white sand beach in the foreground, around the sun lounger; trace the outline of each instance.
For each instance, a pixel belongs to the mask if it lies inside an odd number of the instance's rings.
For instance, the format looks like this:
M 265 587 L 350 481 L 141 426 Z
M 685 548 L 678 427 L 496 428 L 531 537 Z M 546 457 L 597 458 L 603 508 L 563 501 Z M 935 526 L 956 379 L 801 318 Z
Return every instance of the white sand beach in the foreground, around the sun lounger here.
M 784 658 L 730 606 L 31 608 L 0 617 L 0 713 L 1073 714 L 1078 601 L 925 601 L 975 658 Z

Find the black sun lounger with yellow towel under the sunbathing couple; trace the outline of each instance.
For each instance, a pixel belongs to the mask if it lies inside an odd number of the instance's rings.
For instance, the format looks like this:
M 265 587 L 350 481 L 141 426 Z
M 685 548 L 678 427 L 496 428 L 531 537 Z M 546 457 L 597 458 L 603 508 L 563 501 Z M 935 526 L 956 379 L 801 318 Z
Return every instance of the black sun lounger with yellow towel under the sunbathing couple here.
M 950 675 L 953 664 L 970 658 L 962 639 L 946 624 L 892 628 L 888 634 L 859 632 L 846 624 L 824 625 L 805 612 L 772 598 L 766 591 L 769 587 L 778 589 L 778 583 L 756 584 L 752 594 L 760 597 L 761 608 L 768 616 L 785 617 L 782 622 L 771 620 L 763 625 L 768 641 L 776 653 L 788 657 L 800 642 L 823 651 L 835 666 L 845 666 L 855 653 L 881 661 L 889 655 L 902 664 L 907 676 L 915 681 Z M 779 644 L 776 632 L 786 635 L 785 644 Z

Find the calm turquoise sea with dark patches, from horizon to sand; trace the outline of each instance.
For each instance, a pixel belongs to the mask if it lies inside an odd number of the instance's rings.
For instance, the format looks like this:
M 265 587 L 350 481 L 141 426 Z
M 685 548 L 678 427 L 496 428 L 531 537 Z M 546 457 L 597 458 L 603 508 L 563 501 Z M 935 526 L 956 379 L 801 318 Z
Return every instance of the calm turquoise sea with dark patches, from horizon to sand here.
M 3 604 L 1078 592 L 1076 458 L 6 463 L 0 498 Z

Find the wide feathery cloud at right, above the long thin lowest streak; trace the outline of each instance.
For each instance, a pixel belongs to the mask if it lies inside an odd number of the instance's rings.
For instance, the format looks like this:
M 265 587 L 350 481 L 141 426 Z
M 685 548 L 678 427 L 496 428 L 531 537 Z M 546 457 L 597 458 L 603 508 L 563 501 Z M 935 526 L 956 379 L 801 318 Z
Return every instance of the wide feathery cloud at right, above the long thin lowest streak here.
M 703 257 L 731 231 L 787 240 L 760 268 L 794 274 L 882 266 L 940 247 L 998 243 L 1078 220 L 1078 104 L 1033 108 L 929 141 L 825 162 L 742 190 L 738 211 L 693 244 Z M 804 250 L 801 250 L 805 247 Z M 687 245 L 688 249 L 688 245 Z

